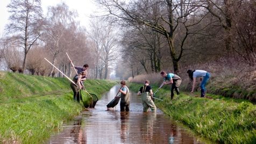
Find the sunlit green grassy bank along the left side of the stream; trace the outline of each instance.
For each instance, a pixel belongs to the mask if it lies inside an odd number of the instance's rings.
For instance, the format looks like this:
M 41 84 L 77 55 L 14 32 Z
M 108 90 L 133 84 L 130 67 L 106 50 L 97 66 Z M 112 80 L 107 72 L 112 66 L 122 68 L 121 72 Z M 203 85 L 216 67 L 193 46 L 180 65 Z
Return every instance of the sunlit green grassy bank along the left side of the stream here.
M 116 83 L 87 80 L 87 91 L 101 93 Z M 83 110 L 73 101 L 66 78 L 0 71 L 0 143 L 42 143 Z

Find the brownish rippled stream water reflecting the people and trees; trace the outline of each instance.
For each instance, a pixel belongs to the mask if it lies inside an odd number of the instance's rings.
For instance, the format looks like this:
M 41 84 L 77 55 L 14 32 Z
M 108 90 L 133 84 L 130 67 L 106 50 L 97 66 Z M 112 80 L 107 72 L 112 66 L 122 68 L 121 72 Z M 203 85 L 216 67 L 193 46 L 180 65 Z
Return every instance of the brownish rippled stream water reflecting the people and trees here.
M 95 109 L 83 111 L 46 143 L 204 143 L 160 110 L 144 113 L 141 98 L 134 92 L 130 112 L 120 112 L 119 104 L 107 111 L 106 104 L 118 90 L 119 85 L 111 88 Z

